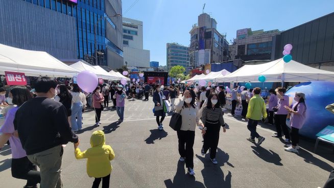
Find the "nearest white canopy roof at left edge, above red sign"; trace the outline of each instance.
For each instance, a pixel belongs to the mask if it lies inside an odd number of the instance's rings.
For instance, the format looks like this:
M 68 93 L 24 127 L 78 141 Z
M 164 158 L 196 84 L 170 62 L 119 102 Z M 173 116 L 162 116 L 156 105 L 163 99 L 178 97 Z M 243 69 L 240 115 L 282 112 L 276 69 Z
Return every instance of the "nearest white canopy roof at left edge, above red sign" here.
M 26 76 L 73 77 L 80 71 L 46 52 L 30 51 L 0 44 L 0 74 L 21 72 Z

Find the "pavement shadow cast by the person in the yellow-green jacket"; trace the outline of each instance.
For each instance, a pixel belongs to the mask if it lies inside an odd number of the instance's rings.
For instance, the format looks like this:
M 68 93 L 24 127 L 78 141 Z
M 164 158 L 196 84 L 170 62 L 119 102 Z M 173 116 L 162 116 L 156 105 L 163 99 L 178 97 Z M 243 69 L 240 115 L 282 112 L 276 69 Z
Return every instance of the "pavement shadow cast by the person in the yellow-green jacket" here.
M 277 166 L 283 166 L 281 157 L 272 150 L 266 150 L 261 146 L 251 146 L 253 153 L 266 162 L 274 163 Z

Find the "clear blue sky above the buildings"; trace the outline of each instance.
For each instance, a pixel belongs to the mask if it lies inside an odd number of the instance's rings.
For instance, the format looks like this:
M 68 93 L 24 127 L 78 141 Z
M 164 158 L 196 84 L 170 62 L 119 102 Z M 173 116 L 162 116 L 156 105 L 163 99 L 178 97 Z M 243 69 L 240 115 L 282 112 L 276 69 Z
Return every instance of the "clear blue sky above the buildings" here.
M 128 11 L 127 9 L 137 3 Z M 143 21 L 144 49 L 151 61 L 166 64 L 166 43 L 189 45 L 192 25 L 208 13 L 218 22 L 217 30 L 227 40 L 236 30 L 252 28 L 287 30 L 334 11 L 334 0 L 123 0 L 123 16 Z

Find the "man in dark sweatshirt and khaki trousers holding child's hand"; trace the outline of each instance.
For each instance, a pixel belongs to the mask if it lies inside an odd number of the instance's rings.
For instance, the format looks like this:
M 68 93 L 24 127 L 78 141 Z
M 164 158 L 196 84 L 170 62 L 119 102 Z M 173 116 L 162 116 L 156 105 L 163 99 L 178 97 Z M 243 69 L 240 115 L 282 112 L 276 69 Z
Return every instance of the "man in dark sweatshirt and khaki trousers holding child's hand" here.
M 61 187 L 61 145 L 78 143 L 79 139 L 69 127 L 64 105 L 51 100 L 56 93 L 56 81 L 39 77 L 34 86 L 37 97 L 17 109 L 14 128 L 28 159 L 40 169 L 40 187 Z

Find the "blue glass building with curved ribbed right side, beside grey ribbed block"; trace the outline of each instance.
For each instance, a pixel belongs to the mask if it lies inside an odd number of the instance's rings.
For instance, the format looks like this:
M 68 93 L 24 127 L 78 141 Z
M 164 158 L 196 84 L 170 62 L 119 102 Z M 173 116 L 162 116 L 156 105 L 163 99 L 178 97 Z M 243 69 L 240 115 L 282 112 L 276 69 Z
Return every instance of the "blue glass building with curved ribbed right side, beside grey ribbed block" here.
M 76 18 L 78 59 L 84 59 L 91 64 L 109 66 L 111 68 L 120 68 L 123 65 L 122 35 L 119 34 L 120 32 L 117 32 L 118 30 L 121 30 L 122 17 L 112 17 L 122 13 L 121 0 L 115 0 L 111 3 L 105 0 L 21 1 L 32 3 Z M 110 16 L 112 18 L 103 18 Z M 94 46 L 94 25 L 96 24 L 98 26 L 96 30 L 97 49 L 95 49 Z M 97 63 L 95 63 L 96 51 L 98 52 Z M 120 60 L 120 63 L 111 64 L 112 60 Z

